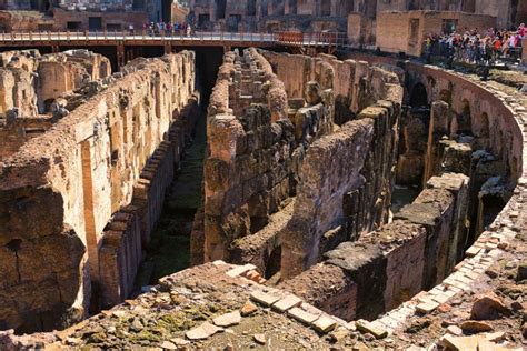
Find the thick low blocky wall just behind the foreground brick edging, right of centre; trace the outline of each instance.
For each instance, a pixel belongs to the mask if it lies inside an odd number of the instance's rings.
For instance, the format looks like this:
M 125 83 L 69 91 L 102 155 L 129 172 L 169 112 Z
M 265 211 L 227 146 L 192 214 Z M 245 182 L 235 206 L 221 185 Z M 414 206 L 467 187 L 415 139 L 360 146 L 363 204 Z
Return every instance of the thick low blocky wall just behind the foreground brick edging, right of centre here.
M 431 289 L 456 262 L 457 252 L 449 249 L 458 240 L 455 228 L 466 219 L 467 183 L 463 174 L 430 180 L 429 189 L 391 223 L 341 243 L 322 263 L 280 287 L 345 320 L 375 319 Z M 314 284 L 314 274 L 337 280 L 334 285 L 340 288 Z

